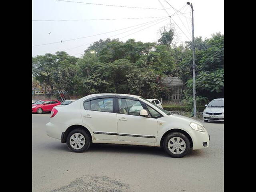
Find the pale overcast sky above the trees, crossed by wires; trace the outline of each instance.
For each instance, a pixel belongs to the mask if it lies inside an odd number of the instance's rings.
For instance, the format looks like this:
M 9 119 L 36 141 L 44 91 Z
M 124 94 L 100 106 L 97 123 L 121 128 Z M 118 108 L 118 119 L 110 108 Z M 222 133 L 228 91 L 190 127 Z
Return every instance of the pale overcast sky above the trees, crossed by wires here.
M 157 42 L 159 29 L 170 22 L 178 33 L 178 43 L 192 40 L 191 9 L 186 2 L 188 0 L 32 0 L 32 56 L 66 51 L 80 57 L 90 44 L 106 38 Z M 224 34 L 224 0 L 193 0 L 190 3 L 194 8 L 195 37 L 204 39 L 216 32 Z M 168 18 L 169 15 L 172 18 Z M 116 18 L 140 19 L 102 20 Z

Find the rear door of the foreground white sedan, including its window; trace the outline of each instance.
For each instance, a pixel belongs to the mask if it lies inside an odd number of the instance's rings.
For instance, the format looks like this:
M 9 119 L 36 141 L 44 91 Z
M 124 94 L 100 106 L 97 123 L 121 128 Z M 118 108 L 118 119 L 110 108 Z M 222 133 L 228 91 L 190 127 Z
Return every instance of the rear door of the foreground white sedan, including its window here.
M 117 120 L 114 97 L 85 100 L 81 106 L 82 121 L 93 131 L 96 139 L 116 140 Z

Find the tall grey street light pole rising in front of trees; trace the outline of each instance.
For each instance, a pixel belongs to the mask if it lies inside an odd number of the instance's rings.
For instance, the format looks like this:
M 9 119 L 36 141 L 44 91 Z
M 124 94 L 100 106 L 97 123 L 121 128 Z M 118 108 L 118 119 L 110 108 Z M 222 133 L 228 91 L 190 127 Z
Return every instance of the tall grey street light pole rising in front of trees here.
M 188 5 L 190 5 L 192 10 L 192 49 L 193 49 L 193 102 L 194 102 L 194 117 L 196 117 L 196 77 L 195 77 L 195 44 L 194 44 L 194 9 L 193 5 L 190 2 L 187 2 Z

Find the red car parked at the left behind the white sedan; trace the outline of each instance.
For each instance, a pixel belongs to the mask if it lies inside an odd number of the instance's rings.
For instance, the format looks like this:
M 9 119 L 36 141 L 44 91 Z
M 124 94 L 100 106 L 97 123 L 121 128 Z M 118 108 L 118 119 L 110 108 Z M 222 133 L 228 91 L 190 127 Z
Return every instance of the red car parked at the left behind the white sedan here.
M 32 113 L 41 114 L 43 112 L 51 112 L 53 107 L 60 104 L 61 102 L 57 100 L 41 100 L 32 104 Z

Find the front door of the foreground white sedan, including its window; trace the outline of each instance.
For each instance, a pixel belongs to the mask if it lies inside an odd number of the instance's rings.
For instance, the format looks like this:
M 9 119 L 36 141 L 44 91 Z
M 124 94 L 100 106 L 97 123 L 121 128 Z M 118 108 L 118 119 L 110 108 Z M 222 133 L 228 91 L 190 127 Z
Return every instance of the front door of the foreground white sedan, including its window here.
M 140 110 L 144 109 L 142 103 L 136 98 L 117 98 L 117 103 L 117 140 L 156 142 L 158 121 L 140 116 Z

